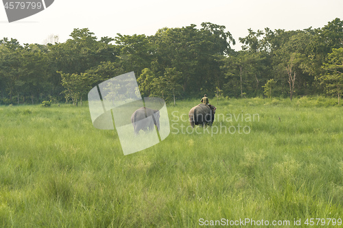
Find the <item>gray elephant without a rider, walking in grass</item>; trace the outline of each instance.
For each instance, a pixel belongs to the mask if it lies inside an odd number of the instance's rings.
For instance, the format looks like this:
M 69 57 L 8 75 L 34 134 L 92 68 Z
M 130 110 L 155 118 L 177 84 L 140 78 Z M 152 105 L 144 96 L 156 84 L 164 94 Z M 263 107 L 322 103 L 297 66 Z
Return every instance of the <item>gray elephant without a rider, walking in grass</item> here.
M 149 116 L 152 116 L 152 118 L 147 118 Z M 160 112 L 158 110 L 151 110 L 147 107 L 141 107 L 132 114 L 131 123 L 135 134 L 139 134 L 140 130 L 147 131 L 149 129 L 149 131 L 152 131 L 154 125 L 156 125 L 159 130 Z

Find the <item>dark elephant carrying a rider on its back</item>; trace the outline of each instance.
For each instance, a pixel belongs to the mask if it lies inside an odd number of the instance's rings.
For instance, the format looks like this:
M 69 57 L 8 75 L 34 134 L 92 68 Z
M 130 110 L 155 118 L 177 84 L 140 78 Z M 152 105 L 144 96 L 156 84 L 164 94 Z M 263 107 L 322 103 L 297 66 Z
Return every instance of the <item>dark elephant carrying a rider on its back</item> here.
M 215 110 L 217 108 L 213 105 L 205 105 L 200 103 L 195 107 L 192 107 L 189 111 L 189 122 L 191 123 L 191 127 L 194 125 L 212 125 L 215 116 Z

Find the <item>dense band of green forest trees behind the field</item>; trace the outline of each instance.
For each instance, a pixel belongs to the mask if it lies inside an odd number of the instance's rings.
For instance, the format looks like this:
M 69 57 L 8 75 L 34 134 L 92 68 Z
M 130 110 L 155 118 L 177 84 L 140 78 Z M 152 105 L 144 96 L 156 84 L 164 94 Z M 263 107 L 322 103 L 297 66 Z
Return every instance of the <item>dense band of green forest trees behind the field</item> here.
M 321 28 L 248 29 L 236 41 L 222 25 L 159 29 L 154 36 L 98 39 L 74 29 L 66 42 L 20 45 L 0 40 L 0 104 L 80 103 L 99 82 L 134 71 L 143 97 L 339 98 L 343 86 L 343 21 Z

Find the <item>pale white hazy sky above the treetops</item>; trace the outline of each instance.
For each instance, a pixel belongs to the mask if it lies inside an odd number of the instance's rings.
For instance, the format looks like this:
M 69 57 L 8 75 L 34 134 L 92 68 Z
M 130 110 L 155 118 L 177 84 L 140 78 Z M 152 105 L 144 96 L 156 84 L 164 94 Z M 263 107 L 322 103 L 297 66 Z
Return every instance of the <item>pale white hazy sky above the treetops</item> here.
M 0 3 L 1 4 L 1 3 Z M 8 23 L 0 5 L 0 39 L 16 38 L 24 43 L 44 44 L 51 34 L 60 42 L 69 39 L 75 28 L 88 28 L 97 38 L 117 33 L 154 35 L 163 27 L 184 27 L 202 22 L 224 25 L 237 44 L 248 29 L 306 29 L 343 20 L 343 0 L 211 0 L 211 1 L 89 1 L 55 0 L 43 12 Z

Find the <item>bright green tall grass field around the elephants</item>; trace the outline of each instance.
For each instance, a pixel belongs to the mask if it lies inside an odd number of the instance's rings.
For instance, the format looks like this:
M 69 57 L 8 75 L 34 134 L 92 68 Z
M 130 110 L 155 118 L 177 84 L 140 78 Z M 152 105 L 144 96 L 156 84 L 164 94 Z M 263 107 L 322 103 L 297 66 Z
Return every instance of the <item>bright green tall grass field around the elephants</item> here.
M 181 117 L 198 101 L 179 101 L 167 106 L 171 134 L 126 156 L 116 131 L 93 127 L 87 106 L 0 106 L 0 227 L 204 227 L 222 218 L 343 227 L 334 103 L 220 100 L 213 127 L 197 134 Z

